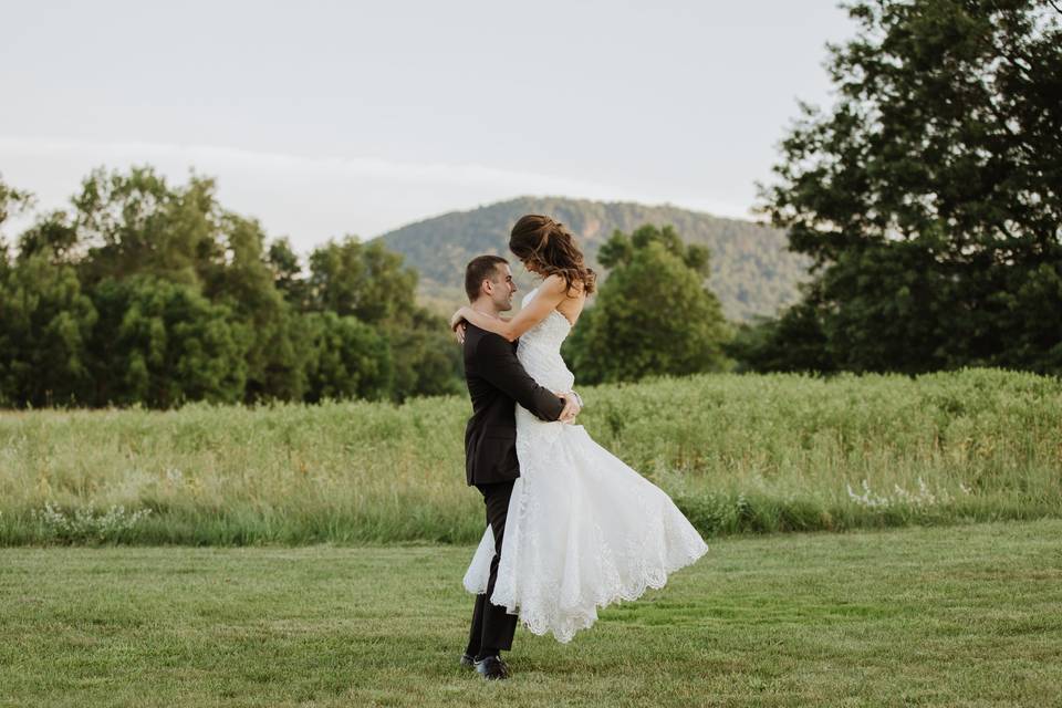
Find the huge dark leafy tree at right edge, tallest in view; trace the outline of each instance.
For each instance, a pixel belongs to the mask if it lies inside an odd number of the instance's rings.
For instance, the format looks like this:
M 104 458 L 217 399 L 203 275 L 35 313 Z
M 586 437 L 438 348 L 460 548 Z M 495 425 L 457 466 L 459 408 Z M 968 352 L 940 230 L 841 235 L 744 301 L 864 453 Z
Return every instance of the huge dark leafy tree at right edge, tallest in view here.
M 761 190 L 814 260 L 801 308 L 824 356 L 850 371 L 1062 373 L 1058 13 L 866 0 L 850 14 L 858 35 L 831 49 L 836 104 L 802 107 Z M 774 327 L 771 346 L 799 334 Z

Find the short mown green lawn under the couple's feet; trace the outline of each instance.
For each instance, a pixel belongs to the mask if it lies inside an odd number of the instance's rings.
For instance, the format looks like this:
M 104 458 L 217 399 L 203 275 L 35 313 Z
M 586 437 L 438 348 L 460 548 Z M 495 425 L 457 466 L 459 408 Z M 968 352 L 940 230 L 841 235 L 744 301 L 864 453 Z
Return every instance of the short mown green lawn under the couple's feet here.
M 1060 706 L 1062 521 L 733 537 L 514 677 L 469 546 L 0 550 L 0 706 Z

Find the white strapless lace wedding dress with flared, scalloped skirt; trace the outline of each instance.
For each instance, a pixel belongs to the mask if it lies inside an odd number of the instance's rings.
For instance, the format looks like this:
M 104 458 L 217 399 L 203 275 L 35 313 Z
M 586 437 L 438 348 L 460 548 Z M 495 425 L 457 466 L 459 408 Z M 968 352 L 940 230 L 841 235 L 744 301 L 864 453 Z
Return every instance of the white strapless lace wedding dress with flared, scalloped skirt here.
M 574 383 L 561 358 L 571 329 L 554 310 L 520 337 L 520 363 L 551 391 Z M 570 642 L 597 620 L 598 607 L 663 587 L 669 573 L 708 550 L 666 493 L 581 425 L 545 423 L 518 405 L 517 457 L 520 477 L 490 602 L 518 614 L 534 634 Z M 465 574 L 468 592 L 487 592 L 493 555 L 488 527 Z

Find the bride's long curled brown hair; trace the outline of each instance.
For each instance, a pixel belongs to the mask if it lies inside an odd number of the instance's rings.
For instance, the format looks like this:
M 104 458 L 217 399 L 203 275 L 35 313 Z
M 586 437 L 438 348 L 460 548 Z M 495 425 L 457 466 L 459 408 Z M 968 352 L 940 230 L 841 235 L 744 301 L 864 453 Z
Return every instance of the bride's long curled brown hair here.
M 563 278 L 569 291 L 581 287 L 587 295 L 594 292 L 597 274 L 586 268 L 572 232 L 550 217 L 520 217 L 509 235 L 509 250 L 528 270 Z

